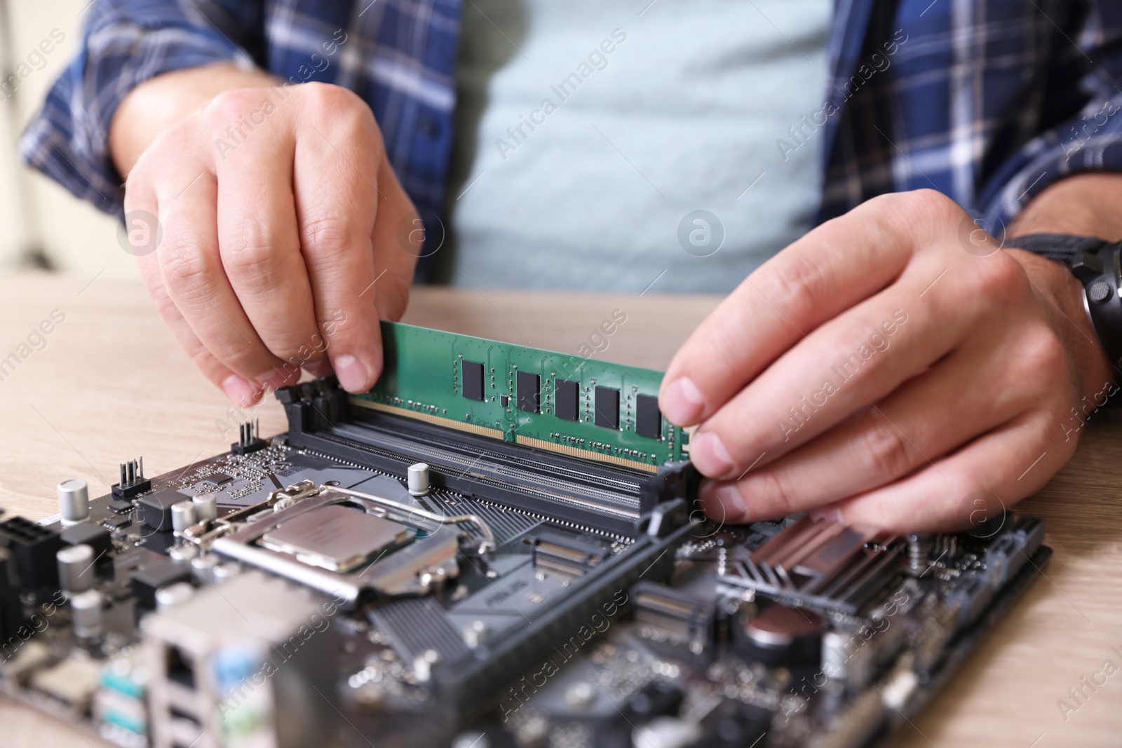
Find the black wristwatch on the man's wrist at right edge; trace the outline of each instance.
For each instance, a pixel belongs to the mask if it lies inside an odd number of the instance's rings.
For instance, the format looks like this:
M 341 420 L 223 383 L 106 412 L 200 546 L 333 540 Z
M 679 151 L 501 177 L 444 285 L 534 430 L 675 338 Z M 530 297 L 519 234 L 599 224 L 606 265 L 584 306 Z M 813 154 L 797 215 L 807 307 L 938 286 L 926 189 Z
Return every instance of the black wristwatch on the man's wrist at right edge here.
M 1029 233 L 1006 239 L 1004 246 L 1064 262 L 1083 283 L 1083 308 L 1114 368 L 1118 393 L 1122 373 L 1122 297 L 1119 296 L 1122 242 L 1066 233 Z M 1110 397 L 1107 405 L 1122 406 L 1122 398 Z

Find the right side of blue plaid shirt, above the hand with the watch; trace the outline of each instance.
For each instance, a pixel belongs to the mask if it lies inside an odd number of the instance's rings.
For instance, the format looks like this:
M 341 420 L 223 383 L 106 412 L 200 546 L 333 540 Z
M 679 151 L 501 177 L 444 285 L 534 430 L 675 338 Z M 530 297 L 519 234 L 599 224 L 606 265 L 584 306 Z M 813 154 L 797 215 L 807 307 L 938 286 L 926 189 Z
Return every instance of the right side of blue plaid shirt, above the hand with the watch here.
M 935 188 L 991 233 L 1122 172 L 1118 0 L 836 0 L 819 221 Z

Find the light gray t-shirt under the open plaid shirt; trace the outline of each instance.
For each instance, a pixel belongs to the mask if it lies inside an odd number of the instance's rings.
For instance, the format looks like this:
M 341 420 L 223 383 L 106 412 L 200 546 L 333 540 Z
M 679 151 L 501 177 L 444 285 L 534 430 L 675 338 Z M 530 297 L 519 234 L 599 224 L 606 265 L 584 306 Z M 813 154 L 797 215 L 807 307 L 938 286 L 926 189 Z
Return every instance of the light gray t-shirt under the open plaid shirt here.
M 645 2 L 465 3 L 442 280 L 727 292 L 809 229 L 831 1 Z

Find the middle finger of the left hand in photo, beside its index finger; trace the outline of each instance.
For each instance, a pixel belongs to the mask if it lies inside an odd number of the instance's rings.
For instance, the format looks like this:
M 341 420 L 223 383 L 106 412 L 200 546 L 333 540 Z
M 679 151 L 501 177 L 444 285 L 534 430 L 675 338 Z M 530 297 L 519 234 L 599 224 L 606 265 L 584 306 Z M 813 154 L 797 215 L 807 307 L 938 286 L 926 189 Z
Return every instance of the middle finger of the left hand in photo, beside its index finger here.
M 312 287 L 300 252 L 292 194 L 294 142 L 277 112 L 278 90 L 231 92 L 223 105 L 249 112 L 254 130 L 219 150 L 219 253 L 230 285 L 261 342 L 288 376 L 323 361 Z M 227 119 L 233 119 L 232 116 Z M 272 376 L 272 375 L 268 375 Z

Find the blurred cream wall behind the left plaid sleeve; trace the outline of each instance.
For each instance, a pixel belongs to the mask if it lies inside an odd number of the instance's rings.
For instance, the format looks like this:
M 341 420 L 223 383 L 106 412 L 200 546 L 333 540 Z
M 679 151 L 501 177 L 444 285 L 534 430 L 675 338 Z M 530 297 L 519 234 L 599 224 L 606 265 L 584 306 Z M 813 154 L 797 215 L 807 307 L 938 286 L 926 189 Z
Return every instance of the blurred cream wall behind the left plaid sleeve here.
M 117 221 L 19 163 L 16 142 L 70 64 L 90 0 L 0 0 L 0 82 L 26 63 L 15 92 L 0 89 L 0 266 L 48 265 L 79 276 L 137 277 L 117 243 Z M 57 29 L 57 31 L 55 31 Z M 43 54 L 44 39 L 64 35 Z M 26 72 L 28 68 L 25 67 Z M 9 84 L 10 89 L 10 84 Z

